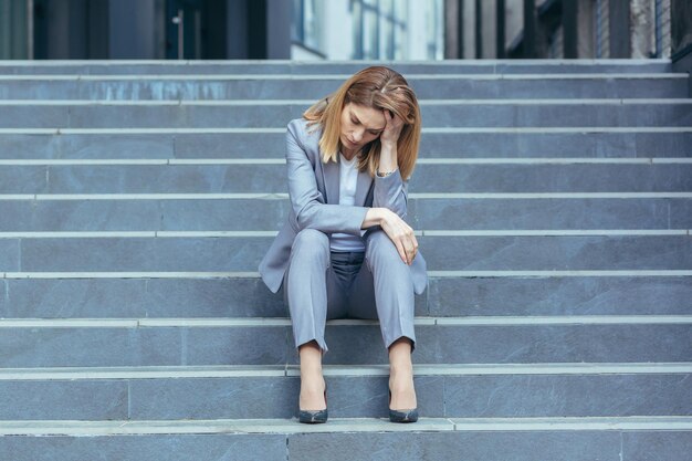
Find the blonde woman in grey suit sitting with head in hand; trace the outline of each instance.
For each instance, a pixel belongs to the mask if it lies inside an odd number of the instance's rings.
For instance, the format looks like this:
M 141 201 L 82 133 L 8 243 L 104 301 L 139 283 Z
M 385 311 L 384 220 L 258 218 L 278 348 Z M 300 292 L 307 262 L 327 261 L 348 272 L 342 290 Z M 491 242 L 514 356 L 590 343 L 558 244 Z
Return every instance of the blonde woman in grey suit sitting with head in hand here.
M 389 350 L 389 419 L 418 419 L 413 293 L 426 262 L 403 221 L 420 109 L 397 72 L 365 69 L 289 124 L 291 214 L 260 264 L 283 285 L 301 364 L 300 421 L 327 420 L 322 355 L 327 318 L 379 318 Z

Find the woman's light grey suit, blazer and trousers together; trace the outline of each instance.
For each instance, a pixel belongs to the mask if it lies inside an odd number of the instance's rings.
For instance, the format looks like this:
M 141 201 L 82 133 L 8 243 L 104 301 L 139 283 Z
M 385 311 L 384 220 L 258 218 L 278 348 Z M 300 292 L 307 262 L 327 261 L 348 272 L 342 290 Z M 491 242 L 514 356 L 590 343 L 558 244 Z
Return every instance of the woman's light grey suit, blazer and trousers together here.
M 413 292 L 426 289 L 426 261 L 419 253 L 409 266 L 379 227 L 365 234 L 360 229 L 370 207 L 385 207 L 405 218 L 407 182 L 398 171 L 375 179 L 359 172 L 355 202 L 361 206 L 338 205 L 339 165 L 322 163 L 321 134 L 318 127 L 308 130 L 302 118 L 289 124 L 291 212 L 260 263 L 262 280 L 274 293 L 284 285 L 296 347 L 315 339 L 326 352 L 327 317 L 374 317 L 375 308 L 386 346 L 401 336 L 415 340 Z M 363 235 L 365 263 L 357 253 L 331 253 L 333 232 Z M 359 271 L 344 271 L 360 265 Z

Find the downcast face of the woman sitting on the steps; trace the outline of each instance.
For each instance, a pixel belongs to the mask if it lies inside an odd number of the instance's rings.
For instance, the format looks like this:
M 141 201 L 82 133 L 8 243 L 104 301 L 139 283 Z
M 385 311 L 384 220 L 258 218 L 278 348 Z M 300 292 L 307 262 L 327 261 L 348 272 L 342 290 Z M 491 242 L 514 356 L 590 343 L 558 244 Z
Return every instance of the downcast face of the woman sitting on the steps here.
M 342 111 L 340 140 L 344 155 L 357 154 L 385 130 L 387 121 L 381 111 L 348 103 Z

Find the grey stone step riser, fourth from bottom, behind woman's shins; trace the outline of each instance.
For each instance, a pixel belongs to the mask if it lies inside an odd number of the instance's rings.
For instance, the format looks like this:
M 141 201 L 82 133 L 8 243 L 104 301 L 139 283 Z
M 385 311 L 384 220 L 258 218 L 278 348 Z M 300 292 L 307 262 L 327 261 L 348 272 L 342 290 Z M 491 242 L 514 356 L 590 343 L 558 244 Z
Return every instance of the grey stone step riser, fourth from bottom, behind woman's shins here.
M 692 274 L 692 272 L 690 272 Z M 0 318 L 285 317 L 259 277 L 0 280 Z M 429 277 L 418 316 L 685 315 L 689 276 Z

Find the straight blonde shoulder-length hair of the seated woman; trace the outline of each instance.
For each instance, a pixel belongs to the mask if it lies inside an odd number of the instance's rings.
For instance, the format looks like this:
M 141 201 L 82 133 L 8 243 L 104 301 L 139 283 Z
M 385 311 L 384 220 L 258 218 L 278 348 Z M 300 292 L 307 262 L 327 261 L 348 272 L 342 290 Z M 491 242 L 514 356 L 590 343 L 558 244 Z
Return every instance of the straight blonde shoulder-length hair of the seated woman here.
M 322 161 L 337 161 L 342 148 L 342 111 L 349 104 L 356 104 L 378 111 L 390 111 L 403 119 L 403 127 L 397 142 L 397 164 L 403 179 L 413 172 L 420 144 L 420 108 L 413 90 L 401 74 L 384 66 L 361 70 L 348 78 L 327 97 L 313 104 L 303 117 L 308 125 L 322 127 L 319 150 Z M 363 147 L 358 169 L 368 170 L 375 176 L 379 167 L 381 144 L 379 137 Z

